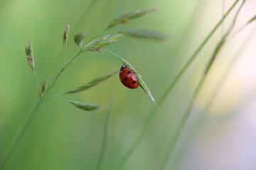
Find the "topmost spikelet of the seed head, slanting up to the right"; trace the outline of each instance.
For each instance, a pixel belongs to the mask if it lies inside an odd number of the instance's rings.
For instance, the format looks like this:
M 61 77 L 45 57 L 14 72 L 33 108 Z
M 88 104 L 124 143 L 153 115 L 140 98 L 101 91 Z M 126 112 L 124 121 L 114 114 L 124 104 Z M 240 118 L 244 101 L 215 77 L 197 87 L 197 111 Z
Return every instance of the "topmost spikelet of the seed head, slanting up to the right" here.
M 113 26 L 116 26 L 119 23 L 129 23 L 130 19 L 138 18 L 139 16 L 144 16 L 147 13 L 150 13 L 152 11 L 156 11 L 158 8 L 150 8 L 150 9 L 137 9 L 136 11 L 132 11 L 131 13 L 124 14 L 122 16 L 119 16 L 116 18 L 110 25 L 107 27 L 107 29 L 112 28 Z

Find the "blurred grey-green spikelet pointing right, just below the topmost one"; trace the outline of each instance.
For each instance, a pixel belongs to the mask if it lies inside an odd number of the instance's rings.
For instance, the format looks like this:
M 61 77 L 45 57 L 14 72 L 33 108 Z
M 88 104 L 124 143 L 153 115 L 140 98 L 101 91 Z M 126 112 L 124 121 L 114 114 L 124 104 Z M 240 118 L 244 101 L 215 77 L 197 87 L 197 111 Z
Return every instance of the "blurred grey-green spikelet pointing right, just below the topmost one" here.
M 168 35 L 159 33 L 154 30 L 127 29 L 127 30 L 119 30 L 118 33 L 123 33 L 125 35 L 129 35 L 129 36 L 135 37 L 135 38 L 144 38 L 144 39 L 151 39 L 151 40 L 166 40 L 169 38 Z

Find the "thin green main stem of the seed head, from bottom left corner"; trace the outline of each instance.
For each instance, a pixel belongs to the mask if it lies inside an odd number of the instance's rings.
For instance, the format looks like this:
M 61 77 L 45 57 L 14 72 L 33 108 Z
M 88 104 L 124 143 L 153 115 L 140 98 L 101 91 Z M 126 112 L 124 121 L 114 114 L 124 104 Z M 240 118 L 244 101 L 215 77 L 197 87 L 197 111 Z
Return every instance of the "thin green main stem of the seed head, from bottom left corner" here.
M 69 64 L 71 64 L 76 58 L 78 58 L 80 56 L 82 52 L 78 52 L 77 55 L 75 55 L 75 57 L 73 57 L 67 64 L 65 64 L 65 66 L 60 69 L 60 72 L 58 72 L 57 76 L 55 77 L 55 79 L 53 80 L 53 83 L 49 86 L 49 88 L 46 90 L 45 95 L 38 101 L 36 107 L 34 108 L 33 112 L 31 113 L 31 115 L 29 116 L 28 120 L 26 121 L 25 125 L 23 126 L 21 132 L 18 133 L 18 137 L 16 138 L 14 145 L 11 146 L 11 149 L 9 150 L 9 152 L 6 154 L 6 157 L 4 157 L 4 161 L 3 163 L 1 163 L 0 165 L 0 169 L 4 170 L 6 168 L 6 164 L 7 162 L 9 162 L 9 159 L 11 159 L 12 154 L 14 153 L 14 151 L 16 150 L 19 142 L 21 142 L 23 135 L 26 133 L 26 131 L 28 130 L 29 126 L 31 125 L 33 118 L 35 117 L 39 106 L 41 106 L 41 104 L 43 103 L 43 101 L 46 101 L 45 96 L 48 93 L 48 91 L 50 91 L 50 89 L 53 88 L 53 86 L 55 85 L 55 82 L 58 80 L 58 78 L 60 77 L 60 75 L 63 73 L 63 71 L 68 67 Z

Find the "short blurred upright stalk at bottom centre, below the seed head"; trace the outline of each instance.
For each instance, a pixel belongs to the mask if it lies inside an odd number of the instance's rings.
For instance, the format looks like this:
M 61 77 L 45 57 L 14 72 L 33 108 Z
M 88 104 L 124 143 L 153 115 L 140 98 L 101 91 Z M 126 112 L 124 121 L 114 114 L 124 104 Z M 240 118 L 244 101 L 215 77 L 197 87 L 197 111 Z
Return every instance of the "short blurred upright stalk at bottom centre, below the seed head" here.
M 107 140 L 108 140 L 108 137 L 110 136 L 110 120 L 112 118 L 113 106 L 114 106 L 114 100 L 112 99 L 110 101 L 110 108 L 107 112 L 107 117 L 105 120 L 105 128 L 104 128 L 103 137 L 102 137 L 102 145 L 100 149 L 100 156 L 97 162 L 96 170 L 102 169 L 102 166 L 105 162 L 105 157 L 107 152 Z

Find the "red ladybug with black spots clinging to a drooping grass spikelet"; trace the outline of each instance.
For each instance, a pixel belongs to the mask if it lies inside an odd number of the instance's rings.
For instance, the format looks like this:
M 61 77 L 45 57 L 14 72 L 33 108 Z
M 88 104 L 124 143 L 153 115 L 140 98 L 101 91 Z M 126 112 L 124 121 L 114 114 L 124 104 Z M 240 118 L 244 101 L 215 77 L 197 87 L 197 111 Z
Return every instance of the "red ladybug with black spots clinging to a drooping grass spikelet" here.
M 139 87 L 138 79 L 135 76 L 134 72 L 123 64 L 120 72 L 119 78 L 124 86 L 127 86 L 129 89 L 137 89 Z

